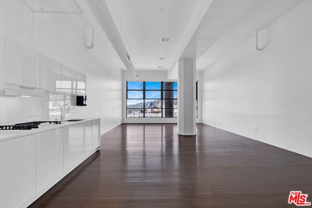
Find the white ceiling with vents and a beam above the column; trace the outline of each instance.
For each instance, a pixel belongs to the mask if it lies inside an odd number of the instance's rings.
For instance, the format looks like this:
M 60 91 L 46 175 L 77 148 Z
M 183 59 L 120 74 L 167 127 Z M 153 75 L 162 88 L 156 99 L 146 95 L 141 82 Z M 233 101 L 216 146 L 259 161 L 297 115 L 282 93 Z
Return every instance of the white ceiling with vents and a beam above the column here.
M 168 70 L 169 77 L 176 78 L 178 59 L 194 58 L 197 70 L 207 69 L 253 38 L 255 30 L 270 25 L 304 0 L 105 1 L 135 69 Z M 84 0 L 77 3 L 84 12 L 81 19 L 99 29 Z M 161 38 L 170 40 L 161 42 Z M 109 44 L 105 38 L 101 41 Z M 107 48 L 114 54 L 113 47 Z M 117 67 L 125 69 L 117 59 L 116 54 Z

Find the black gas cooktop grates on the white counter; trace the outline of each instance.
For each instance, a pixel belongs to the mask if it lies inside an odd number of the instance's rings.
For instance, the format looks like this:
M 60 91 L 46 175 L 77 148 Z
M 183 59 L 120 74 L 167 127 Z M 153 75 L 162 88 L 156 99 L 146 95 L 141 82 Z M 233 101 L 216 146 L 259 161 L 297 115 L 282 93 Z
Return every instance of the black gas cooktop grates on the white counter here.
M 61 124 L 60 121 L 32 121 L 27 123 L 20 123 L 14 125 L 0 126 L 0 130 L 31 130 L 50 125 Z

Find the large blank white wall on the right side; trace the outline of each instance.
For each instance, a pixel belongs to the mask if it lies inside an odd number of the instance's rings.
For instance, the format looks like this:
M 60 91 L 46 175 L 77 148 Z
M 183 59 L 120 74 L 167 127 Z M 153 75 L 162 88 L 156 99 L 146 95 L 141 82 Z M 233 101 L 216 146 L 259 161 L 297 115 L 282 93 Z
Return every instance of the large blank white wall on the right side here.
M 203 72 L 203 122 L 312 157 L 312 1 Z M 256 128 L 256 129 L 255 129 Z

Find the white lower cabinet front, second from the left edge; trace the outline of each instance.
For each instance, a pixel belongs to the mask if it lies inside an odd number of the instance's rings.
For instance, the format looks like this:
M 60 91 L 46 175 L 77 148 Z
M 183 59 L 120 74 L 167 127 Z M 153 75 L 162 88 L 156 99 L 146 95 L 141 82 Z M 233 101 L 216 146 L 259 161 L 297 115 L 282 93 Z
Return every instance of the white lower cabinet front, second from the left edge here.
M 63 173 L 63 128 L 37 133 L 37 192 Z

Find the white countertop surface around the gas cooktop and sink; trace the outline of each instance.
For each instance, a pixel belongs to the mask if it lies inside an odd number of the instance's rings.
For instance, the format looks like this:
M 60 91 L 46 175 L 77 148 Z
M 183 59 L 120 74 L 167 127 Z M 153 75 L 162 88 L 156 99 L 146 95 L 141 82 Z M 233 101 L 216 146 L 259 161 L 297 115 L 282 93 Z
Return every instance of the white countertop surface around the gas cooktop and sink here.
M 71 120 L 71 119 L 83 119 L 83 120 L 81 120 L 81 121 L 66 121 L 66 120 Z M 50 125 L 50 126 L 41 127 L 41 128 L 39 127 L 38 129 L 0 130 L 0 142 L 5 141 L 5 140 L 9 140 L 9 139 L 19 138 L 22 136 L 35 134 L 35 133 L 39 133 L 39 132 L 45 132 L 45 131 L 49 131 L 49 130 L 53 130 L 53 129 L 58 129 L 58 128 L 62 128 L 64 126 L 75 125 L 78 123 L 92 121 L 92 120 L 96 120 L 96 119 L 99 119 L 99 118 L 68 118 L 64 121 L 61 121 L 61 124 L 55 124 L 55 125 Z

